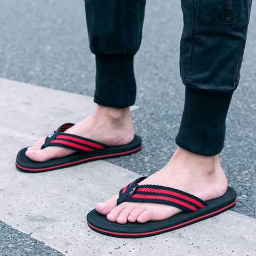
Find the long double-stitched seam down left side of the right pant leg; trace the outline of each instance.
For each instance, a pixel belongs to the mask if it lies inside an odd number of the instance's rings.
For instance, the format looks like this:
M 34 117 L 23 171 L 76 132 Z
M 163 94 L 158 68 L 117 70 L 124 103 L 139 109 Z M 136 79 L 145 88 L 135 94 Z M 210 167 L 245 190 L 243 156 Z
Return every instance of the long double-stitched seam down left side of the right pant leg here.
M 196 57 L 198 50 L 199 0 L 194 0 L 193 9 L 193 47 L 191 51 L 190 68 L 187 78 L 188 84 L 193 83 L 193 77 L 196 69 Z

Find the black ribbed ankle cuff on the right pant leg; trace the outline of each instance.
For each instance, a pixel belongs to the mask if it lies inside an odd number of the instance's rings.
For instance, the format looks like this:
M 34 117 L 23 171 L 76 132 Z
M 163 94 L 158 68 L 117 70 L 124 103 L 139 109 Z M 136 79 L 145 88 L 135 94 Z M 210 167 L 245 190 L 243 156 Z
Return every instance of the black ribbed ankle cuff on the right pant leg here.
M 186 87 L 178 146 L 199 155 L 218 155 L 223 149 L 226 117 L 233 92 L 209 93 Z

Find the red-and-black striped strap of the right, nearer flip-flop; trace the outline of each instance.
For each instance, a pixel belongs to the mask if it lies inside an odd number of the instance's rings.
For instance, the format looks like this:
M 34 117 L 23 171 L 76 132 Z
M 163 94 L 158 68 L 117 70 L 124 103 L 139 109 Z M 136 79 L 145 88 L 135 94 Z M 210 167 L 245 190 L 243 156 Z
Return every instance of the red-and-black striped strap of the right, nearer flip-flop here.
M 141 177 L 119 192 L 117 205 L 123 202 L 147 202 L 168 204 L 185 212 L 195 212 L 207 205 L 202 199 L 179 189 L 157 185 L 138 185 L 146 177 Z

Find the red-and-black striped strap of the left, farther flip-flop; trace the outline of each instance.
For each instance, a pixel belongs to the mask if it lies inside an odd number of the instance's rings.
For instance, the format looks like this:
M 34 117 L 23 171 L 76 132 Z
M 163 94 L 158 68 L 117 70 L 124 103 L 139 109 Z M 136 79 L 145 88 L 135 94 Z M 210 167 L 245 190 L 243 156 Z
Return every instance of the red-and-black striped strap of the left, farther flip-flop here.
M 41 149 L 48 146 L 59 146 L 84 153 L 98 149 L 105 149 L 108 147 L 107 145 L 104 145 L 94 140 L 83 138 L 74 134 L 64 133 L 68 128 L 73 125 L 74 124 L 69 123 L 63 124 L 57 130 L 53 131 L 46 137 L 45 143 Z

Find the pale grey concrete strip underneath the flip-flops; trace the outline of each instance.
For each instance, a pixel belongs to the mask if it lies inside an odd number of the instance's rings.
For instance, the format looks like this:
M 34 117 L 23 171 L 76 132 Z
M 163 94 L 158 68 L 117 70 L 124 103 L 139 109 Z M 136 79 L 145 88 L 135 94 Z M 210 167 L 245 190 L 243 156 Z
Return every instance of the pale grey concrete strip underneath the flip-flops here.
M 15 168 L 19 149 L 60 122 L 77 122 L 94 107 L 90 97 L 0 78 L 1 220 L 65 255 L 256 254 L 256 220 L 232 211 L 148 238 L 113 238 L 90 230 L 86 214 L 94 204 L 139 176 L 105 161 L 37 174 Z

